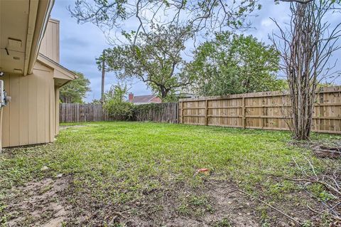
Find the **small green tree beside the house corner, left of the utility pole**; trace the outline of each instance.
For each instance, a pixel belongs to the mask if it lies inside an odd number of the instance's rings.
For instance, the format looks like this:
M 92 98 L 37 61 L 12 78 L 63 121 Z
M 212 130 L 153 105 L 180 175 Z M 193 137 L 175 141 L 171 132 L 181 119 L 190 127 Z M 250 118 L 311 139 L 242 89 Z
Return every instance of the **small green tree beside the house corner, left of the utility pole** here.
M 60 100 L 65 103 L 82 103 L 86 93 L 91 91 L 90 80 L 85 78 L 83 73 L 74 72 L 77 75 L 75 80 L 70 81 L 60 88 Z

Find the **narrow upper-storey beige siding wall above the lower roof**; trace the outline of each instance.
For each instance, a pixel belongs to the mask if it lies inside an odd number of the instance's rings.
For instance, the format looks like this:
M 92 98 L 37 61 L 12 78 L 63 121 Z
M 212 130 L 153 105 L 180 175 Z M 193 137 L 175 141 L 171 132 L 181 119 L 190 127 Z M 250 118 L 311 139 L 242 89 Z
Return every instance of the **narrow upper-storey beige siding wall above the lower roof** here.
M 59 21 L 49 19 L 39 52 L 59 63 Z

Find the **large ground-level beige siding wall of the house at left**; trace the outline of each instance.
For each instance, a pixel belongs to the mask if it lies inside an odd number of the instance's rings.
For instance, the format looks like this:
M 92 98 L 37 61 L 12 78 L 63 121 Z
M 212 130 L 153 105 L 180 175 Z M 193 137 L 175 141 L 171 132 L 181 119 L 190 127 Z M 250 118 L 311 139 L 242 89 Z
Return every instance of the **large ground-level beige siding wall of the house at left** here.
M 6 73 L 1 79 L 11 96 L 3 108 L 3 147 L 53 142 L 58 111 L 53 69 L 36 63 L 32 75 Z

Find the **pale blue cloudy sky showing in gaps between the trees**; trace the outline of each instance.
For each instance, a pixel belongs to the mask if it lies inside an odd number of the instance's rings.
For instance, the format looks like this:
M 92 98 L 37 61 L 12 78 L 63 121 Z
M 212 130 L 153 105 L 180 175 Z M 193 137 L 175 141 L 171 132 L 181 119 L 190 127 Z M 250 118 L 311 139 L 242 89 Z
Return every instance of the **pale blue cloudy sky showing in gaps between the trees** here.
M 257 12 L 259 16 L 252 17 L 254 28 L 247 31 L 259 40 L 270 43 L 269 34 L 276 29 L 270 18 L 283 23 L 288 19 L 288 4 L 274 4 L 273 0 L 261 0 L 262 9 Z M 87 94 L 86 102 L 99 99 L 101 93 L 101 72 L 97 69 L 95 58 L 109 44 L 102 31 L 91 23 L 77 24 L 77 21 L 70 16 L 67 6 L 73 5 L 74 0 L 55 0 L 55 6 L 51 17 L 60 21 L 60 63 L 70 70 L 77 70 L 84 73 L 91 82 L 91 92 Z M 333 16 L 330 21 L 340 20 L 340 14 Z M 132 22 L 134 23 L 134 22 Z M 134 26 L 126 24 L 125 26 Z M 341 51 L 335 54 L 334 58 L 341 56 Z M 338 66 L 340 68 L 340 66 Z M 105 78 L 105 90 L 110 85 L 117 83 L 114 73 L 107 73 Z M 337 80 L 340 83 L 340 79 Z M 131 90 L 134 95 L 147 95 L 148 90 L 144 83 L 134 80 Z

